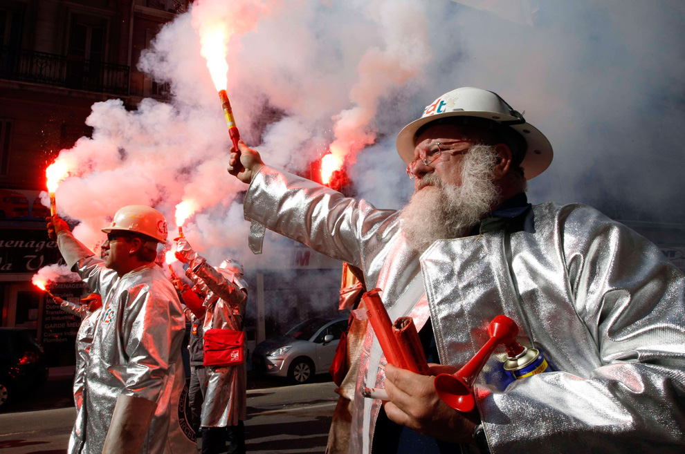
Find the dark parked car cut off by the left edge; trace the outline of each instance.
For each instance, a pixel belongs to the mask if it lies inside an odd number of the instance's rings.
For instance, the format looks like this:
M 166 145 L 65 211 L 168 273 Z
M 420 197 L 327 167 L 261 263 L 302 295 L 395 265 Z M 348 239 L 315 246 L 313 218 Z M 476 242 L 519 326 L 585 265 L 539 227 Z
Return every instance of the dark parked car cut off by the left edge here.
M 0 328 L 0 411 L 45 383 L 48 363 L 27 328 Z

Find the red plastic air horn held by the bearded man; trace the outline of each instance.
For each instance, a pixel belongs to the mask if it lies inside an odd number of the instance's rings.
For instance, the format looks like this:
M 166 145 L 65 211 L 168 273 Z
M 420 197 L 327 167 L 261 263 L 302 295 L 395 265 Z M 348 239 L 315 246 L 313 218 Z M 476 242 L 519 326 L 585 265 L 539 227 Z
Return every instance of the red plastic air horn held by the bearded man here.
M 508 346 L 515 343 L 518 326 L 507 316 L 498 315 L 488 325 L 490 339 L 471 358 L 463 368 L 454 374 L 440 374 L 435 377 L 435 390 L 440 399 L 457 411 L 467 413 L 475 407 L 473 382 L 500 344 Z

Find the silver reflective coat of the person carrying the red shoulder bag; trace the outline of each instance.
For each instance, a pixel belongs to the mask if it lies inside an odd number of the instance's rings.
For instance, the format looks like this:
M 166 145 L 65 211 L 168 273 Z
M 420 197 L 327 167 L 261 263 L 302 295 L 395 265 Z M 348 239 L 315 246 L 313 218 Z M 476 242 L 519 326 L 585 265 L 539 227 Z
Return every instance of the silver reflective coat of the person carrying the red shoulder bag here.
M 241 331 L 247 303 L 247 284 L 239 275 L 226 269 L 215 269 L 197 256 L 188 263 L 188 274 L 201 278 L 208 292 L 203 332 L 212 328 Z M 208 367 L 207 391 L 202 404 L 201 426 L 237 426 L 246 419 L 247 369 L 239 366 Z

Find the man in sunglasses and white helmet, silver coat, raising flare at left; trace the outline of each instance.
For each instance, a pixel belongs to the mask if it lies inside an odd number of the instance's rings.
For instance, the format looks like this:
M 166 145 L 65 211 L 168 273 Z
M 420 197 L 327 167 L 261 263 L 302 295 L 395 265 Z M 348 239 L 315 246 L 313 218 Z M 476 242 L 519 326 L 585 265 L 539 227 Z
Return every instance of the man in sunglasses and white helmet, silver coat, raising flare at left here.
M 156 209 L 131 205 L 102 231 L 104 259 L 74 238 L 59 216 L 48 223 L 67 265 L 102 295 L 84 366 L 80 438 L 71 452 L 191 452 L 194 444 L 179 423 L 183 308 L 155 263 L 166 220 Z

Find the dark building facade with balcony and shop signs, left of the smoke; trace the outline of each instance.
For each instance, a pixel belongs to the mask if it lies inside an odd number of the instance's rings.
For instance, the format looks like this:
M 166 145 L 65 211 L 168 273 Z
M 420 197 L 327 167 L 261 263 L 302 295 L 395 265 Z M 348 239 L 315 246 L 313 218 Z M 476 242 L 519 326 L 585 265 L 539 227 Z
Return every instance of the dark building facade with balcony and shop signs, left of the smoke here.
M 31 283 L 60 263 L 48 240 L 39 193 L 45 168 L 83 135 L 95 102 L 130 109 L 164 100 L 165 85 L 136 69 L 161 26 L 185 11 L 181 0 L 3 0 L 0 3 L 0 314 L 1 326 L 34 330 L 51 366 L 74 363 L 79 322 Z M 81 283 L 54 283 L 76 301 Z

